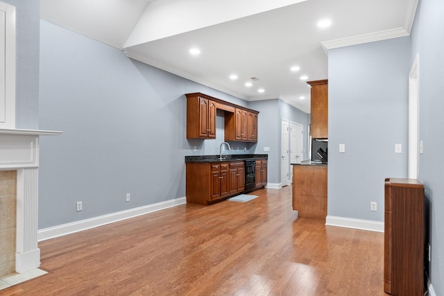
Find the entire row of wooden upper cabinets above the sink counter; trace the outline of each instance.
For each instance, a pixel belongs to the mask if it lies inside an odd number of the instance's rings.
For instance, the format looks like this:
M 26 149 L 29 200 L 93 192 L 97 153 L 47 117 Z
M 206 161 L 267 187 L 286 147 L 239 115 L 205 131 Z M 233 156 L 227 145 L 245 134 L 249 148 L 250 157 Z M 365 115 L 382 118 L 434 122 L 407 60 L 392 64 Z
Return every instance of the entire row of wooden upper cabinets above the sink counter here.
M 259 112 L 205 94 L 187 96 L 187 139 L 216 139 L 216 112 L 225 112 L 225 141 L 257 142 Z

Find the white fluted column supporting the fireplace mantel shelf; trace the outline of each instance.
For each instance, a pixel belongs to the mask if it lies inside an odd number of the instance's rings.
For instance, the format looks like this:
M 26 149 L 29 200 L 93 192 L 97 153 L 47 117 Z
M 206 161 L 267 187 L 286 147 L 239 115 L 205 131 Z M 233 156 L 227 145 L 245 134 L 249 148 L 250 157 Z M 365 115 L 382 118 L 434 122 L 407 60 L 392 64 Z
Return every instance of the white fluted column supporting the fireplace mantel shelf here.
M 17 169 L 17 239 L 15 270 L 19 273 L 40 266 L 37 247 L 38 168 Z

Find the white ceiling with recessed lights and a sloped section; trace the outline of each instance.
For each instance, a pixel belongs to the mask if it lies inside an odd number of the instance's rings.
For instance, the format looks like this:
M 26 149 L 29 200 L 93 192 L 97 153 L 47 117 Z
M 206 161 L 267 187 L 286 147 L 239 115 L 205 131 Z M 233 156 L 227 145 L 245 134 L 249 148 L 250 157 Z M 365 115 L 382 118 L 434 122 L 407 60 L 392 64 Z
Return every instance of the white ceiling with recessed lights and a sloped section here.
M 418 0 L 40 0 L 42 19 L 246 101 L 309 113 L 327 49 L 409 35 Z M 254 5 L 253 5 L 254 4 Z M 332 26 L 318 28 L 330 19 Z M 191 46 L 200 55 L 189 54 Z M 300 71 L 291 72 L 298 65 Z M 237 80 L 230 80 L 235 73 Z M 246 87 L 250 78 L 253 87 Z M 259 94 L 257 89 L 265 90 Z M 305 100 L 300 100 L 305 96 Z

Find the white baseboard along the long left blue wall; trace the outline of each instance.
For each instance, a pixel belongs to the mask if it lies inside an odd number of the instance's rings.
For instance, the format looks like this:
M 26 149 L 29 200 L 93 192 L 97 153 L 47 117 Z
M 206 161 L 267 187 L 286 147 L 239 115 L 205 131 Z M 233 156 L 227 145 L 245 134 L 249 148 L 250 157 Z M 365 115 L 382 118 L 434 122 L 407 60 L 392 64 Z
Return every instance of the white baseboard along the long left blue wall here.
M 128 209 L 126 211 L 118 211 L 116 213 L 103 215 L 99 217 L 89 218 L 85 220 L 76 221 L 73 223 L 62 224 L 54 227 L 40 229 L 37 233 L 38 241 L 45 241 L 49 238 L 56 238 L 58 236 L 64 236 L 72 234 L 74 232 L 81 232 L 86 229 L 99 227 L 101 225 L 114 223 L 120 220 L 133 218 L 136 216 L 152 213 L 153 211 L 160 211 L 162 209 L 168 209 L 170 207 L 176 207 L 179 204 L 185 204 L 187 198 L 176 198 L 174 200 L 167 200 L 165 202 L 157 202 L 155 204 L 148 204 L 144 207 L 137 207 L 134 209 Z

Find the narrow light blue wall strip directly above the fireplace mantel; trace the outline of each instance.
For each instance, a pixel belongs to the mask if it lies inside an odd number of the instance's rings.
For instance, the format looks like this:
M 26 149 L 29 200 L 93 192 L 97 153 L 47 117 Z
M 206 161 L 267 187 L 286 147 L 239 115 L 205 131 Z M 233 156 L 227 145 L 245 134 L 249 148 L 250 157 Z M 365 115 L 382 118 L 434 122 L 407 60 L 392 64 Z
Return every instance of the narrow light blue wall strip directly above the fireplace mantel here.
M 40 1 L 2 1 L 15 6 L 16 12 L 15 128 L 37 129 Z

